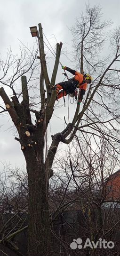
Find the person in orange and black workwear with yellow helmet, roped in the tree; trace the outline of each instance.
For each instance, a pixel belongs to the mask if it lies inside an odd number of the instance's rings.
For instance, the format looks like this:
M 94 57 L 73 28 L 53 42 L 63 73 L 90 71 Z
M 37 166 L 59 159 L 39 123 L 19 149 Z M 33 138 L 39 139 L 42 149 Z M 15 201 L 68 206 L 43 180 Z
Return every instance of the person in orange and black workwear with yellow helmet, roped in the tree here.
M 83 95 L 87 89 L 87 85 L 88 83 L 92 82 L 92 78 L 89 74 L 81 74 L 80 72 L 69 67 L 62 66 L 62 68 L 72 73 L 74 77 L 68 81 L 59 82 L 55 85 L 54 89 L 57 92 L 56 100 L 66 96 L 68 93 L 71 94 L 72 97 L 75 96 L 75 100 L 77 100 L 77 89 L 80 88 L 80 97 L 78 100 L 78 104 L 80 105 Z

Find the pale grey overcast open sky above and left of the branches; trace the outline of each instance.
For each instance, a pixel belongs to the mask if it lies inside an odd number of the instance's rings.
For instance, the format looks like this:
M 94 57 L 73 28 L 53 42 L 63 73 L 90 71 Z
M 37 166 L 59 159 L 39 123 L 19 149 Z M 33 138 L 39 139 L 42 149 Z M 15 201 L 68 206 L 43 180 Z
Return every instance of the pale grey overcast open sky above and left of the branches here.
M 25 45 L 32 46 L 35 39 L 31 37 L 29 27 L 37 26 L 38 23 L 42 24 L 43 32 L 52 46 L 56 44 L 56 41 L 62 41 L 64 48 L 70 51 L 72 35 L 68 27 L 75 24 L 75 18 L 80 17 L 80 12 L 85 10 L 85 3 L 88 4 L 88 2 L 91 7 L 100 4 L 103 19 L 112 19 L 114 22 L 112 27 L 120 25 L 120 0 L 89 0 L 86 2 L 83 0 L 0 0 L 1 55 L 3 57 L 6 55 L 9 46 L 16 53 L 20 45 L 19 40 Z M 55 35 L 56 40 L 52 39 L 52 35 Z M 61 56 L 60 61 L 71 67 L 70 61 L 64 56 Z M 58 72 L 61 72 L 60 69 Z M 1 99 L 0 102 L 2 102 Z M 63 125 L 63 114 L 60 112 L 59 117 L 61 119 L 57 120 L 60 120 Z M 0 124 L 3 125 L 0 128 L 0 161 L 10 163 L 12 167 L 24 165 L 20 145 L 14 140 L 14 130 L 8 130 L 11 125 L 10 118 L 0 117 Z M 53 134 L 55 128 L 54 125 Z M 56 130 L 59 131 L 58 126 Z M 0 164 L 0 169 L 2 169 L 2 164 Z

